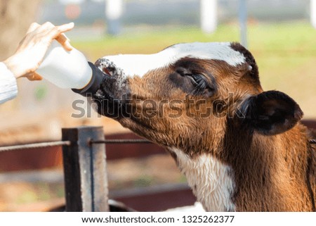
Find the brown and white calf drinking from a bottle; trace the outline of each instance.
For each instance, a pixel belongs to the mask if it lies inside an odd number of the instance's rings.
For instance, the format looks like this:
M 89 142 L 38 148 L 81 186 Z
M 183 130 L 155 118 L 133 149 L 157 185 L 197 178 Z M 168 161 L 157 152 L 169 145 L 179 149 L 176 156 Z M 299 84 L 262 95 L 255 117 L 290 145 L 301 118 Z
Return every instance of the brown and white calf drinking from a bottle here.
M 206 211 L 315 211 L 303 112 L 287 94 L 263 92 L 242 45 L 176 44 L 96 66 L 98 113 L 164 146 Z

